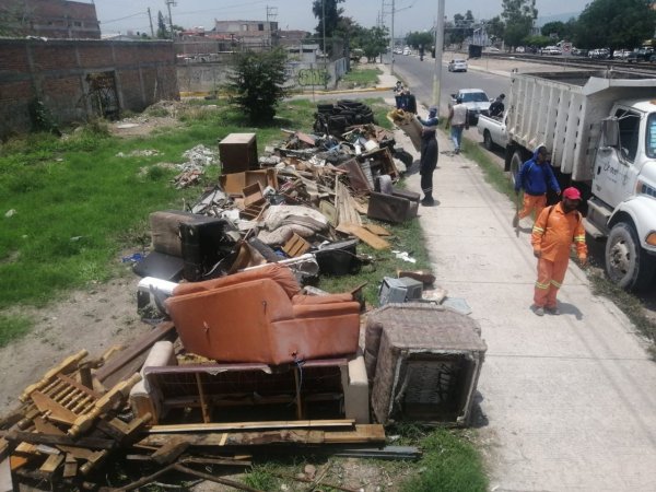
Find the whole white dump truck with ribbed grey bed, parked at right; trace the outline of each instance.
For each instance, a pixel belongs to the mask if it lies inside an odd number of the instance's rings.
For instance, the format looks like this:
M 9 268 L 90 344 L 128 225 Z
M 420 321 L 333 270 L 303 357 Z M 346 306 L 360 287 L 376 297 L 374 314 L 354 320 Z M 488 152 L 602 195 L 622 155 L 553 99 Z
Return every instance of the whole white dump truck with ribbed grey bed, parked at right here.
M 506 171 L 544 144 L 562 186 L 586 199 L 585 227 L 606 238 L 606 271 L 625 289 L 656 271 L 656 77 L 618 71 L 515 73 Z

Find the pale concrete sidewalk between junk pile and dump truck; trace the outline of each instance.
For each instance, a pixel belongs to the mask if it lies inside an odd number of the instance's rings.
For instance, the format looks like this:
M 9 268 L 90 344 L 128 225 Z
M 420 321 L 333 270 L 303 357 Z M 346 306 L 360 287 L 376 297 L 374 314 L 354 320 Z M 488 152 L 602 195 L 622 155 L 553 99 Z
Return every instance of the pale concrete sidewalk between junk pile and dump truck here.
M 491 490 L 655 491 L 656 364 L 634 327 L 574 263 L 562 314 L 534 315 L 536 260 L 512 202 L 443 132 L 438 144 L 441 204 L 421 208 L 420 223 L 436 285 L 467 300 L 489 347 L 477 426 Z M 420 191 L 418 174 L 408 186 Z

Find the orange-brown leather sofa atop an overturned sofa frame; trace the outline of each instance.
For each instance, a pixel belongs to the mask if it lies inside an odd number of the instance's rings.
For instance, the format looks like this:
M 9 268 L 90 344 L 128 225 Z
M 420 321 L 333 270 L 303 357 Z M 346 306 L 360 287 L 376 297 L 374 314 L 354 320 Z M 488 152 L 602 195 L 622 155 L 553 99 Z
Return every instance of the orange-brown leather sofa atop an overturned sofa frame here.
M 272 263 L 180 284 L 166 300 L 185 349 L 220 362 L 283 364 L 358 351 L 360 304 L 351 294 L 300 295 Z

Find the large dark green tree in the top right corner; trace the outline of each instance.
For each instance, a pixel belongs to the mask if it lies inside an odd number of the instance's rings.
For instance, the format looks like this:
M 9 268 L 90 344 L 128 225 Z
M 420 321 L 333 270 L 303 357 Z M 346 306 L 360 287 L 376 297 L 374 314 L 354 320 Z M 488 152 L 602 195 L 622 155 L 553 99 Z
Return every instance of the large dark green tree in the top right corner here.
M 574 43 L 582 48 L 634 48 L 654 35 L 649 0 L 594 0 L 578 16 Z

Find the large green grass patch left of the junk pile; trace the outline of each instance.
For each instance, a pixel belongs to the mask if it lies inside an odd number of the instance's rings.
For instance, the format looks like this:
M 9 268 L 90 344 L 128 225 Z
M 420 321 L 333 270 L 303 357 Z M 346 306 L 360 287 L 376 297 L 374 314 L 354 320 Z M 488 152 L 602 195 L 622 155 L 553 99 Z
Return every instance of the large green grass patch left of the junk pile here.
M 154 210 L 180 209 L 199 196 L 198 188 L 176 190 L 175 169 L 155 166 L 183 163 L 197 144 L 216 148 L 216 140 L 236 131 L 256 131 L 260 152 L 283 140 L 281 127 L 312 127 L 315 106 L 285 102 L 280 118 L 256 129 L 232 108 L 192 106 L 179 115 L 183 126 L 148 138 L 119 139 L 89 128 L 65 139 L 30 134 L 0 149 L 0 309 L 13 304 L 43 306 L 59 293 L 113 276 L 130 237 L 148 233 Z M 155 156 L 117 156 L 155 149 Z M 147 172 L 140 173 L 144 167 Z M 203 184 L 215 180 L 208 172 Z M 13 211 L 11 216 L 7 212 Z M 126 232 L 132 232 L 126 237 Z

